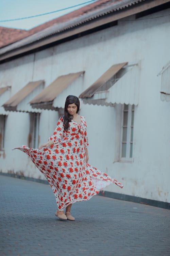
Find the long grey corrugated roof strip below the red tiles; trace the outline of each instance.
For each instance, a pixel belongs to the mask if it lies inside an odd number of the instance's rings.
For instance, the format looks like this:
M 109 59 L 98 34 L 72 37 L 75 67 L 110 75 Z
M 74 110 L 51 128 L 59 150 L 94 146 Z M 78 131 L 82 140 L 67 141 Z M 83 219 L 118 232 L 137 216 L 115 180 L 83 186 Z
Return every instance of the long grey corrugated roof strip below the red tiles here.
M 46 37 L 49 37 L 51 35 L 61 33 L 65 30 L 75 28 L 77 26 L 81 26 L 87 22 L 90 22 L 91 20 L 98 19 L 102 16 L 105 16 L 109 13 L 121 11 L 123 9 L 129 8 L 133 5 L 136 5 L 140 2 L 144 2 L 146 0 L 110 0 L 103 4 L 100 3 L 99 6 L 96 6 L 96 8 L 92 9 L 88 13 L 85 13 L 81 16 L 75 17 L 71 20 L 68 20 L 66 22 L 55 24 L 51 27 L 48 27 L 44 30 L 41 30 L 27 38 L 24 38 L 18 42 L 15 42 L 11 45 L 8 45 L 6 47 L 3 47 L 0 49 L 0 55 L 5 54 L 6 52 L 12 51 L 16 48 L 20 48 L 24 45 L 31 44 L 33 42 L 39 41 L 41 39 L 44 39 Z

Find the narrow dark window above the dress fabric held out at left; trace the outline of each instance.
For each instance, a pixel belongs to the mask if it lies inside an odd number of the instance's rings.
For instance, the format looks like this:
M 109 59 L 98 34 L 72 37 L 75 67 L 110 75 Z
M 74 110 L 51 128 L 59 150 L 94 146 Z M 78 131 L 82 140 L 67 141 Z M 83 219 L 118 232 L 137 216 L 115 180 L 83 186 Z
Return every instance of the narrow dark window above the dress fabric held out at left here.
M 38 148 L 40 113 L 30 113 L 29 147 Z

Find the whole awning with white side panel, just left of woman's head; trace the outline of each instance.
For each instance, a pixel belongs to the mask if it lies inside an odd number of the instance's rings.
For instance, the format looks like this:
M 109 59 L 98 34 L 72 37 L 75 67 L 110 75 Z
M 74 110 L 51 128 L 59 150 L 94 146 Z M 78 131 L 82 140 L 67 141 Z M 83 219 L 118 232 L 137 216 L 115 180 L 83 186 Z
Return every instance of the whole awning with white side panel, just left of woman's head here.
M 82 75 L 84 72 L 70 73 L 57 77 L 56 80 L 30 101 L 32 108 L 57 111 L 64 108 L 64 102 L 68 95 L 77 95 L 82 91 Z

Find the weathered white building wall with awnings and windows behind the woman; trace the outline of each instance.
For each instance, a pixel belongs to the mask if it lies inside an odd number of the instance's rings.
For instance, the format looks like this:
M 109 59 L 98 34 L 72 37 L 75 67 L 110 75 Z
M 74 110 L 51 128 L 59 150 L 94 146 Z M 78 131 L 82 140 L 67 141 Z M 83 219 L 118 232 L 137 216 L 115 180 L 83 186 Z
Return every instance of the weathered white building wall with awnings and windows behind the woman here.
M 170 202 L 169 14 L 166 6 L 128 15 L 77 38 L 1 58 L 0 171 L 45 179 L 12 148 L 45 143 L 72 94 L 80 96 L 86 117 L 89 163 L 124 185 L 105 191 Z M 54 94 L 47 99 L 50 88 Z

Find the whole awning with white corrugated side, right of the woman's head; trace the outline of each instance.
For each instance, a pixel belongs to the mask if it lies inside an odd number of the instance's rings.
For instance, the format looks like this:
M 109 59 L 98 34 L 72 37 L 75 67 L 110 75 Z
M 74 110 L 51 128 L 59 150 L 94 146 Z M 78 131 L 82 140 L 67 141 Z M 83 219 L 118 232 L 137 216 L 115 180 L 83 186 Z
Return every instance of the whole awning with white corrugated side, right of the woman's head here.
M 139 64 L 120 63 L 107 70 L 80 98 L 85 104 L 138 104 Z M 122 69 L 122 70 L 121 70 Z M 106 74 L 109 74 L 108 76 Z M 112 74 L 112 76 L 111 76 Z M 106 78 L 107 79 L 103 79 Z

